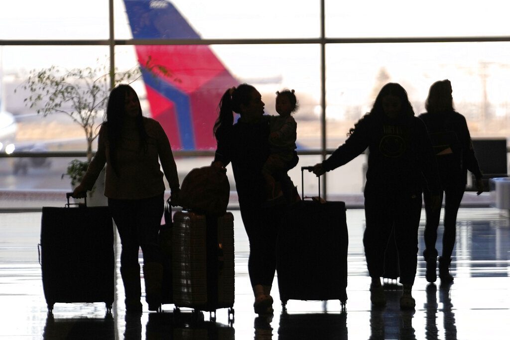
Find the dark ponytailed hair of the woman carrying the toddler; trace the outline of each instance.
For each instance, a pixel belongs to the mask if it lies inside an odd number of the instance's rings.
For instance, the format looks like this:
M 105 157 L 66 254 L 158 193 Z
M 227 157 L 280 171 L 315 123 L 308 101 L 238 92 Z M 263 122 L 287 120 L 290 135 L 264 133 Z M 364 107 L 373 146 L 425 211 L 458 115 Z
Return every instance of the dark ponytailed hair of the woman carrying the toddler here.
M 241 84 L 225 91 L 218 104 L 218 118 L 214 123 L 213 135 L 218 140 L 224 131 L 234 124 L 234 114 L 241 113 L 241 104 L 247 105 L 251 99 L 250 94 L 256 90 L 251 85 Z

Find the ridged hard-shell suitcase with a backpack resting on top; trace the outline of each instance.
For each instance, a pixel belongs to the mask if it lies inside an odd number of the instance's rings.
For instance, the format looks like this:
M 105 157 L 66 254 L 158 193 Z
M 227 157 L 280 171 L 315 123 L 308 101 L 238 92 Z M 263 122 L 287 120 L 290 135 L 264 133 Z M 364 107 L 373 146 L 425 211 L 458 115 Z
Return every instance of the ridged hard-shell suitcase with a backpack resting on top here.
M 176 212 L 172 227 L 173 303 L 234 317 L 234 216 Z

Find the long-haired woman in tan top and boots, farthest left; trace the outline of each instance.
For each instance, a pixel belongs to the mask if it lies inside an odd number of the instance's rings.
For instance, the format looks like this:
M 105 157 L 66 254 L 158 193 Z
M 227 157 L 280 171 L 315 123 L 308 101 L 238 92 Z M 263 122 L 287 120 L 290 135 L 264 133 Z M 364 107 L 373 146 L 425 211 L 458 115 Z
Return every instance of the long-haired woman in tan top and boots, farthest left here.
M 140 247 L 145 300 L 149 310 L 158 310 L 163 267 L 157 238 L 165 192 L 161 167 L 170 185 L 172 203 L 177 203 L 179 194 L 172 149 L 161 125 L 142 116 L 140 100 L 129 85 L 118 85 L 110 92 L 106 118 L 99 129 L 97 152 L 72 196 L 85 197 L 106 163 L 105 196 L 122 245 L 120 274 L 126 312 L 142 312 Z

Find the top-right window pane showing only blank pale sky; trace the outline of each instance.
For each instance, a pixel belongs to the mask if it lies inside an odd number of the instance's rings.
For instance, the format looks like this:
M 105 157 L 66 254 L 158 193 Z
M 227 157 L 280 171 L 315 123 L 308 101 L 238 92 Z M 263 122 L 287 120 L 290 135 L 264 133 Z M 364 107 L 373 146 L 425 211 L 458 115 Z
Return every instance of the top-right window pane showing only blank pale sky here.
M 505 36 L 510 4 L 499 0 L 325 1 L 326 36 Z

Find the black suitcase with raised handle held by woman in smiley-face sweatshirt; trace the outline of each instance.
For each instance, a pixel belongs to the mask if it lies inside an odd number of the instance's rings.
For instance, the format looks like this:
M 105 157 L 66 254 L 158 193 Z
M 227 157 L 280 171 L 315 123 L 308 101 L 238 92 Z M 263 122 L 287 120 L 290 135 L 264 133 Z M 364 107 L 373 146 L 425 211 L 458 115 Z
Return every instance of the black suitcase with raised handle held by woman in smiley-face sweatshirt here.
M 301 183 L 303 171 L 309 169 L 301 167 Z M 286 309 L 288 300 L 340 300 L 345 306 L 345 202 L 304 198 L 289 208 L 278 232 L 276 271 L 282 307 Z

